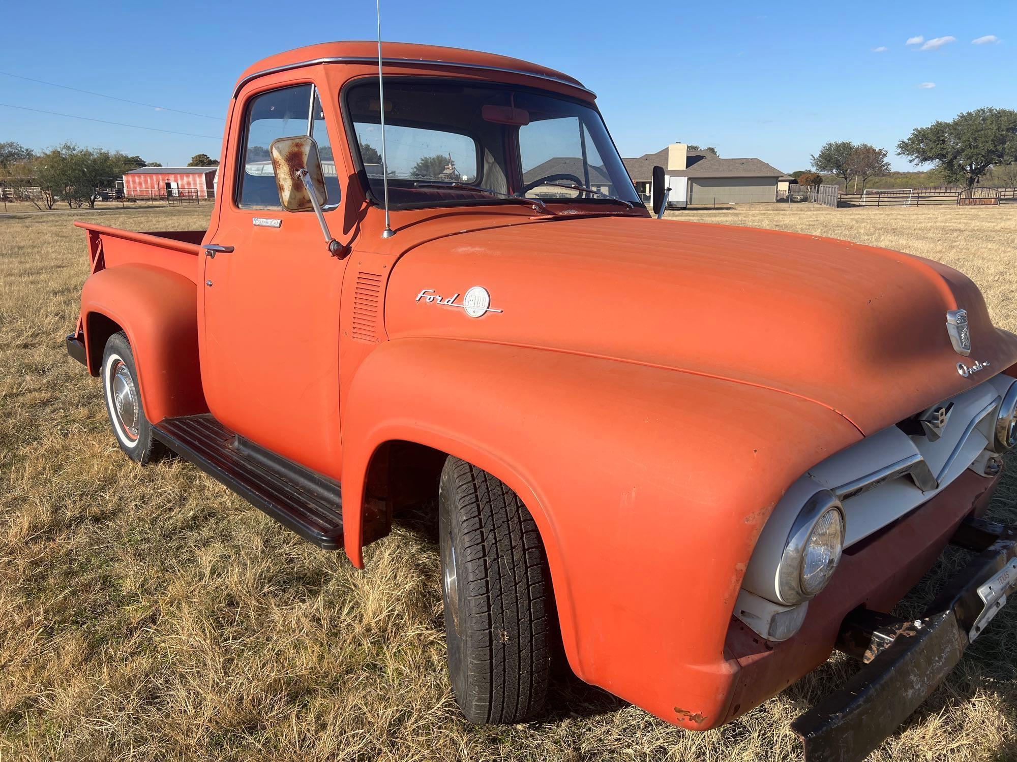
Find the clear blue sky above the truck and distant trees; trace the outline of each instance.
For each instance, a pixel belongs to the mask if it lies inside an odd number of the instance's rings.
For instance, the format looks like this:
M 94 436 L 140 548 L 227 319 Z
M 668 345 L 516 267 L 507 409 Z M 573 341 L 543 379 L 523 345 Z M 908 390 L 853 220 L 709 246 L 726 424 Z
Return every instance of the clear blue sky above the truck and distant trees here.
M 281 16 L 280 11 L 285 10 Z M 598 93 L 622 155 L 682 140 L 806 169 L 826 140 L 894 154 L 913 127 L 1017 108 L 1017 3 L 657 4 L 382 0 L 385 40 L 501 53 Z M 0 106 L 0 141 L 73 139 L 166 166 L 218 155 L 232 84 L 253 61 L 373 39 L 374 3 L 4 3 L 0 71 L 204 114 L 134 106 L 0 75 L 0 103 L 208 135 L 152 132 Z M 981 44 L 972 41 L 991 37 Z M 908 45 L 908 40 L 921 42 Z M 883 50 L 885 49 L 885 50 Z

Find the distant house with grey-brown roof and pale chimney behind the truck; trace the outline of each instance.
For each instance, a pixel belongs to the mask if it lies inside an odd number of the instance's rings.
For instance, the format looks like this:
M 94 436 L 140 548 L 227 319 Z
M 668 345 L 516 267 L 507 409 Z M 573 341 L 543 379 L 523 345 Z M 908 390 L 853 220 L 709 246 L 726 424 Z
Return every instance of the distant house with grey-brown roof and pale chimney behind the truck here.
M 786 177 L 761 158 L 720 158 L 713 151 L 689 150 L 686 143 L 621 161 L 647 201 L 653 197 L 653 168 L 663 167 L 671 189 L 668 206 L 676 207 L 773 202 L 778 180 Z

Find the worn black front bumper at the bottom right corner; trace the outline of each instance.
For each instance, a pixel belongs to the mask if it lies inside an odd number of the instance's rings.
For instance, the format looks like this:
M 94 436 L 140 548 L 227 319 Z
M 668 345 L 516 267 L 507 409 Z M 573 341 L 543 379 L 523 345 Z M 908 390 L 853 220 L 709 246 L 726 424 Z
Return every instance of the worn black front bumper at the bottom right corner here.
M 968 518 L 950 542 L 978 555 L 920 619 L 859 609 L 844 620 L 838 647 L 866 663 L 791 723 L 807 762 L 864 758 L 946 678 L 1017 588 L 1017 526 Z

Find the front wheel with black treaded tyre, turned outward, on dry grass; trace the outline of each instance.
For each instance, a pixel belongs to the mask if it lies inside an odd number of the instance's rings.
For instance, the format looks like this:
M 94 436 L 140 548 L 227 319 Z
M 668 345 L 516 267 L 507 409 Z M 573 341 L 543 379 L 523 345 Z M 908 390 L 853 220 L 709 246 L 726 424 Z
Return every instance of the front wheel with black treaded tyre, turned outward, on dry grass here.
M 438 531 L 456 701 L 478 724 L 526 719 L 544 704 L 554 631 L 537 525 L 504 484 L 450 457 Z

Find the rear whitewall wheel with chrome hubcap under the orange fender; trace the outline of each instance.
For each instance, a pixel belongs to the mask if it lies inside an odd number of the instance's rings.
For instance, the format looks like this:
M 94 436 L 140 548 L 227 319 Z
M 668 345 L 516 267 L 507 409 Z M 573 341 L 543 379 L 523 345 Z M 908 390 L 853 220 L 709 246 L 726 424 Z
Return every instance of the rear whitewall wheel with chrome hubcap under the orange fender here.
M 123 331 L 106 342 L 101 373 L 106 411 L 120 449 L 132 460 L 149 462 L 162 452 L 162 446 L 153 439 L 152 424 L 144 416 L 134 353 Z

